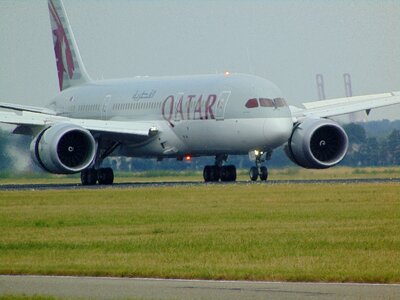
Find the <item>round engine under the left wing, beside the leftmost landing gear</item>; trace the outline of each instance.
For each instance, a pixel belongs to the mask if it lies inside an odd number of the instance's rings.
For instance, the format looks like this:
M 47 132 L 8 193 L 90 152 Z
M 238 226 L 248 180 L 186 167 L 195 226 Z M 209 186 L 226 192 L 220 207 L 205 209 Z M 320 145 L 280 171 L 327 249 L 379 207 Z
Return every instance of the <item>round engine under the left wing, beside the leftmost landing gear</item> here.
M 31 143 L 34 161 L 55 174 L 73 174 L 86 169 L 96 155 L 91 133 L 77 125 L 59 123 L 44 129 Z

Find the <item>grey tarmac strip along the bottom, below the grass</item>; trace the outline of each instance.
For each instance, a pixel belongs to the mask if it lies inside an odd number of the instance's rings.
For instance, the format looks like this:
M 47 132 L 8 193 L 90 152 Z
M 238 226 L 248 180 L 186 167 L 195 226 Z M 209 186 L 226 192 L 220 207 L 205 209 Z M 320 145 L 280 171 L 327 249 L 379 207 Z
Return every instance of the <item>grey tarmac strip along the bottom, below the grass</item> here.
M 79 299 L 400 299 L 400 284 L 0 276 L 0 296 Z

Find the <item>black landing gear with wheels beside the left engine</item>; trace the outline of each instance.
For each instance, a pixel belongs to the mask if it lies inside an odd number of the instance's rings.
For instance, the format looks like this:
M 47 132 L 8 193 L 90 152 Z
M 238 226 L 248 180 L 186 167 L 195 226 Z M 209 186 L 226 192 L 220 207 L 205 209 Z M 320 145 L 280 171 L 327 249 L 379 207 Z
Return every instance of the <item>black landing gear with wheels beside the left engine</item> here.
M 109 156 L 119 145 L 119 142 L 101 144 L 101 141 L 98 141 L 94 166 L 81 172 L 82 185 L 95 185 L 96 183 L 102 185 L 111 185 L 114 183 L 113 169 L 99 168 L 99 166 L 102 164 L 103 160 Z

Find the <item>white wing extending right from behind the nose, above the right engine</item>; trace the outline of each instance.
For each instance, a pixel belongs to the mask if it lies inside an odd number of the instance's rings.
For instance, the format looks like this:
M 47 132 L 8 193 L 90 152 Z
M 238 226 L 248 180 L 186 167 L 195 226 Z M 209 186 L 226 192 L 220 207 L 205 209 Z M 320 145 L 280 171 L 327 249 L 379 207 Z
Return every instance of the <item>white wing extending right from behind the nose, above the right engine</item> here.
M 304 108 L 291 106 L 295 122 L 307 117 L 328 118 L 358 111 L 400 104 L 400 92 L 337 98 L 303 103 Z

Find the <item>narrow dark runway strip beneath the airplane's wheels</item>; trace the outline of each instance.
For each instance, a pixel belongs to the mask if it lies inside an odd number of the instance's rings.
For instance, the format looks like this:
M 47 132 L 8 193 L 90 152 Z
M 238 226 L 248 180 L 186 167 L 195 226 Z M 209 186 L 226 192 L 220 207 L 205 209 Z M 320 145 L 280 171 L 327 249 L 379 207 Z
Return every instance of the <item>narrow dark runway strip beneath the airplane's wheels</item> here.
M 201 185 L 277 185 L 277 184 L 362 184 L 362 183 L 390 183 L 400 182 L 400 178 L 368 178 L 368 179 L 312 179 L 312 180 L 269 180 L 267 182 L 236 181 L 204 183 L 203 181 L 166 181 L 166 182 L 128 182 L 114 183 L 113 185 L 83 186 L 81 184 L 0 184 L 0 191 L 23 191 L 23 190 L 80 190 L 80 189 L 132 189 L 144 187 L 166 187 L 166 186 L 201 186 Z

